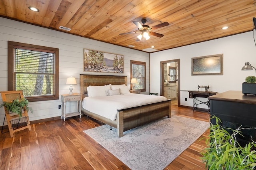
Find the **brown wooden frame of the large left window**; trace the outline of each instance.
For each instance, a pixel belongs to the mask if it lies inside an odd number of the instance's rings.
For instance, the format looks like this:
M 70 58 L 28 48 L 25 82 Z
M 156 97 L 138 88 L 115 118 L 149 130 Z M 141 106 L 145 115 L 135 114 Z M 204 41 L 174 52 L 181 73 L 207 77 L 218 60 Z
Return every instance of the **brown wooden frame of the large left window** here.
M 16 46 L 24 48 L 38 49 L 38 51 L 54 51 L 54 94 L 47 96 L 33 96 L 26 97 L 30 102 L 34 101 L 48 101 L 59 99 L 59 49 L 52 47 L 45 47 L 40 45 L 33 45 L 27 43 L 11 42 L 8 41 L 8 91 L 14 91 L 14 48 Z

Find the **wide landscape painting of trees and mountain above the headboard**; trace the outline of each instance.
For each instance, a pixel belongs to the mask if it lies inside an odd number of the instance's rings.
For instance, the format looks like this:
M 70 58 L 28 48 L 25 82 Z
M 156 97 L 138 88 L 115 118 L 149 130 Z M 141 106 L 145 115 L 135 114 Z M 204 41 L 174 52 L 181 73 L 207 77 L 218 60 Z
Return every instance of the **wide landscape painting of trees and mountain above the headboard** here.
M 84 49 L 84 71 L 124 73 L 124 56 Z

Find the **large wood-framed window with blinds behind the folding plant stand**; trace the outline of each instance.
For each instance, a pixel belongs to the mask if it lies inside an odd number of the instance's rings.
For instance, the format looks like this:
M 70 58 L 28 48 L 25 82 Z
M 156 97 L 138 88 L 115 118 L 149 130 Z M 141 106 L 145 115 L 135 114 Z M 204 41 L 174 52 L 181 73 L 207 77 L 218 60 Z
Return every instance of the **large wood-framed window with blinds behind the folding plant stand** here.
M 8 41 L 8 91 L 28 101 L 59 99 L 59 49 Z

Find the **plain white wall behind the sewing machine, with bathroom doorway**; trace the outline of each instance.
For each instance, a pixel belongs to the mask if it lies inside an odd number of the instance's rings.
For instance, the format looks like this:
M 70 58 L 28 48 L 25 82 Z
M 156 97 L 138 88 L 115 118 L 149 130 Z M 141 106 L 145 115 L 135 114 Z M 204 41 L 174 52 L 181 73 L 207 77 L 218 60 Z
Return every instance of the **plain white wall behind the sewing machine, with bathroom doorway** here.
M 231 28 L 230 28 L 231 29 Z M 227 30 L 228 31 L 228 30 Z M 191 58 L 222 54 L 223 75 L 191 75 Z M 198 90 L 197 86 L 210 86 L 209 91 L 242 91 L 242 83 L 248 75 L 255 76 L 253 71 L 241 71 L 245 62 L 256 67 L 256 47 L 253 33 L 246 32 L 225 38 L 202 43 L 186 45 L 150 54 L 150 91 L 160 93 L 160 61 L 180 59 L 180 105 L 193 106 L 186 90 Z M 153 81 L 154 80 L 154 81 Z M 200 89 L 204 90 L 204 89 Z M 188 101 L 185 101 L 185 98 Z M 206 108 L 206 105 L 198 105 Z

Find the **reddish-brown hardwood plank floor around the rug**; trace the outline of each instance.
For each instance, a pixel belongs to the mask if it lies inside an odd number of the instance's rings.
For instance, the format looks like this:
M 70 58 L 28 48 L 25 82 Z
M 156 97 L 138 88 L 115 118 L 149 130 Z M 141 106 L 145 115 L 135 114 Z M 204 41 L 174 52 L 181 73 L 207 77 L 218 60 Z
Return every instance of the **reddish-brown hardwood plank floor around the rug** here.
M 172 105 L 172 115 L 208 121 L 208 113 Z M 32 130 L 21 130 L 10 138 L 0 134 L 1 170 L 128 170 L 125 164 L 86 135 L 83 130 L 103 125 L 82 116 L 32 124 Z M 5 129 L 7 131 L 8 129 Z M 178 156 L 165 170 L 205 170 L 200 152 L 205 148 L 207 130 Z

